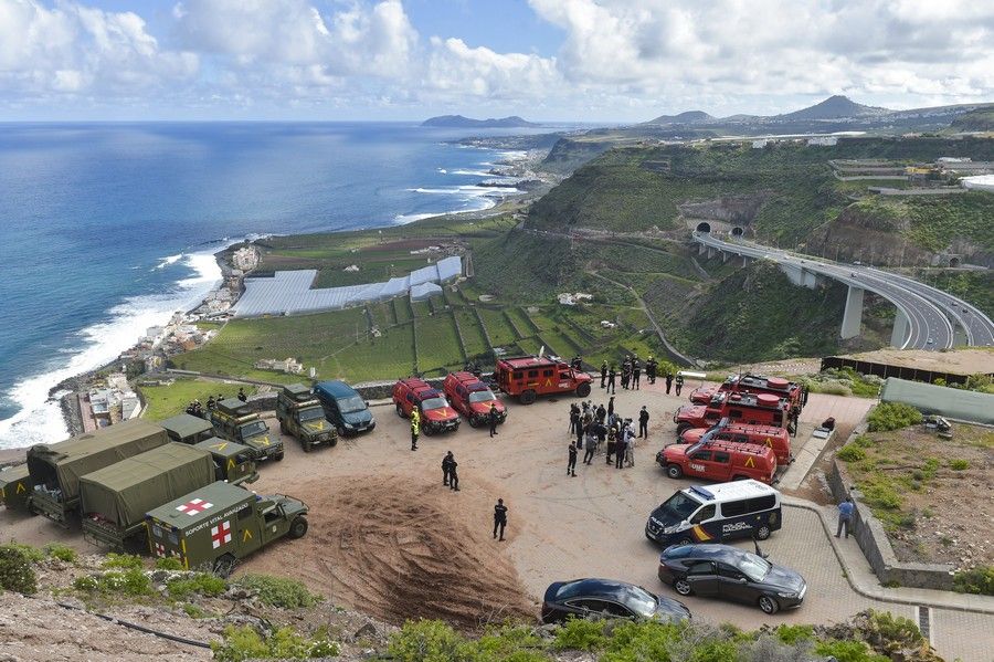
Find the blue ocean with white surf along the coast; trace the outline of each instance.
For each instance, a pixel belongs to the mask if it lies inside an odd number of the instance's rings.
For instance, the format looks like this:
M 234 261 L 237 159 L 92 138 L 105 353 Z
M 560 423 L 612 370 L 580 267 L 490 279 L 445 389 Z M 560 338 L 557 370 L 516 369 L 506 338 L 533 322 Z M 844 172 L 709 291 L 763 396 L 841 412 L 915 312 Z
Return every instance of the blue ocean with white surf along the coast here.
M 447 141 L 524 133 L 0 124 L 0 448 L 64 439 L 50 389 L 195 305 L 224 245 L 491 207 L 476 185 L 516 155 Z

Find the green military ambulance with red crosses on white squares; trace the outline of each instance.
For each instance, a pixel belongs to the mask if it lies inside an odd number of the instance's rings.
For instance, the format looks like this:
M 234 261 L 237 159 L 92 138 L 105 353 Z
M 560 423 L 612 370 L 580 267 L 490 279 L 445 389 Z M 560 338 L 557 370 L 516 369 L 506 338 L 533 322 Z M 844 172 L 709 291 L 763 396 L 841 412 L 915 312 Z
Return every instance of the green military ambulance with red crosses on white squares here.
M 307 533 L 307 505 L 289 496 L 260 496 L 223 482 L 194 490 L 148 513 L 152 556 L 222 576 L 235 563 L 284 536 Z

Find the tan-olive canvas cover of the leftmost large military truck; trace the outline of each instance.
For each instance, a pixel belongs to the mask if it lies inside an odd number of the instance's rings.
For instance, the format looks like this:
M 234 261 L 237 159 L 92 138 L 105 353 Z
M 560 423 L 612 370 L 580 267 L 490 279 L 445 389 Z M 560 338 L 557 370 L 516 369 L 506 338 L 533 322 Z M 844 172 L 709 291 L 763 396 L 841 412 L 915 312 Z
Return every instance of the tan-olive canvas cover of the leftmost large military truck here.
M 62 500 L 70 501 L 80 494 L 80 479 L 86 474 L 168 442 L 162 428 L 133 419 L 56 444 L 33 445 L 28 469 L 35 485 L 57 487 Z

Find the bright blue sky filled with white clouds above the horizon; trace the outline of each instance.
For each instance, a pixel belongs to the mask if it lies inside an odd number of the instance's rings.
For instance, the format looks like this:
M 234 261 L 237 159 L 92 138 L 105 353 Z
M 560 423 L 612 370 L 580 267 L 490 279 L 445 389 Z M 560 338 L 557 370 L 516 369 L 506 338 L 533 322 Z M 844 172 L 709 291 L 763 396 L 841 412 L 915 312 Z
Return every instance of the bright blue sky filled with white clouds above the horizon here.
M 0 0 L 0 120 L 642 122 L 994 101 L 976 0 Z

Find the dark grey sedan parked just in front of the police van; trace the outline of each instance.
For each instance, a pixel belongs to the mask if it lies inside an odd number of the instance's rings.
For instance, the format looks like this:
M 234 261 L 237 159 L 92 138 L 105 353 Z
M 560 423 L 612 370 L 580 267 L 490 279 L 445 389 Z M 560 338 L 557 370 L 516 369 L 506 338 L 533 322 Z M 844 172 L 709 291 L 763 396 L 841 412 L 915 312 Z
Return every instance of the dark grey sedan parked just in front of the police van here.
M 800 607 L 807 584 L 799 572 L 729 545 L 674 545 L 659 557 L 659 580 L 681 596 L 758 605 L 766 613 Z

